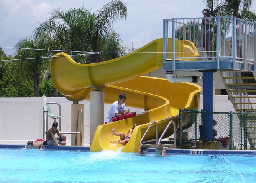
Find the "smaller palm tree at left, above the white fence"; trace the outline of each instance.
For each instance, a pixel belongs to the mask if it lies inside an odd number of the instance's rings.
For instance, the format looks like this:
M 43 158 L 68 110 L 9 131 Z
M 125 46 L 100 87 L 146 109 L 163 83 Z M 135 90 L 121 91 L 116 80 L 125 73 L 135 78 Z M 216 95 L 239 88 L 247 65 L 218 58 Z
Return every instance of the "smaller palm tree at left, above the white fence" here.
M 39 97 L 39 82 L 43 71 L 49 66 L 49 52 L 43 50 L 48 48 L 51 38 L 47 35 L 41 35 L 35 39 L 28 37 L 21 39 L 15 47 L 16 59 L 18 61 L 9 61 L 18 73 L 25 77 L 32 77 L 34 82 L 34 96 Z

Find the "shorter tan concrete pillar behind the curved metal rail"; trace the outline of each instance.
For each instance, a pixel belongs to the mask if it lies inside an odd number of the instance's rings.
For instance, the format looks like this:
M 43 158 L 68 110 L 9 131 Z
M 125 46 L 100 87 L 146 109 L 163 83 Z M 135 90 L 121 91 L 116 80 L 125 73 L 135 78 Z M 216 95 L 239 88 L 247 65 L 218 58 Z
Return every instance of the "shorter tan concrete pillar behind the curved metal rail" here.
M 82 109 L 83 115 L 81 116 Z M 78 124 L 77 124 L 77 111 L 78 112 Z M 71 132 L 81 132 L 81 117 L 82 117 L 82 146 L 84 145 L 84 104 L 72 104 L 71 105 Z M 71 146 L 75 146 L 75 140 L 77 146 L 80 144 L 80 134 L 71 134 Z

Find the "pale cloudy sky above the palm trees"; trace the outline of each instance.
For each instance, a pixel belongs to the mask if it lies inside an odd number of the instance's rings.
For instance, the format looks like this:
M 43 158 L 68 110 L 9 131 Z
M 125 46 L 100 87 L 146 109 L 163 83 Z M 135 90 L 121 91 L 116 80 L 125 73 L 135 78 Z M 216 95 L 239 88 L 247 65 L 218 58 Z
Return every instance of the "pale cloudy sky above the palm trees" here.
M 33 30 L 49 18 L 55 8 L 69 10 L 84 6 L 100 10 L 110 0 L 0 0 L 0 47 L 15 54 L 16 43 L 33 35 Z M 131 48 L 141 48 L 163 35 L 163 19 L 202 17 L 203 0 L 123 0 L 127 18 L 114 23 L 113 29 Z M 256 2 L 251 11 L 256 13 Z M 9 48 L 10 47 L 10 48 Z

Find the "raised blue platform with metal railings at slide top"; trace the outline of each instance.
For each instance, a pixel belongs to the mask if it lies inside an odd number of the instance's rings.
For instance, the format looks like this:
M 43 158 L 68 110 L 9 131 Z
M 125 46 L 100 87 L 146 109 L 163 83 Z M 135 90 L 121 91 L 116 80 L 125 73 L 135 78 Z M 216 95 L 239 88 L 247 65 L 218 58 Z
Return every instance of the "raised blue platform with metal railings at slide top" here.
M 163 69 L 255 72 L 255 27 L 231 16 L 164 19 Z

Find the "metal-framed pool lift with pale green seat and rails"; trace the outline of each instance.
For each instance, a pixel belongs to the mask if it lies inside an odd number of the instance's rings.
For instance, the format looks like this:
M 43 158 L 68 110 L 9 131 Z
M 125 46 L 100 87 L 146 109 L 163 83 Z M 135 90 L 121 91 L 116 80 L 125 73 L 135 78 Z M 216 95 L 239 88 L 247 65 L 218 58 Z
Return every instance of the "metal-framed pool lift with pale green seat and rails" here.
M 57 104 L 59 106 L 59 115 L 54 115 L 51 113 L 51 109 L 49 104 Z M 78 132 L 78 117 L 79 117 L 79 111 L 81 113 L 81 127 L 80 127 L 80 132 Z M 48 102 L 45 103 L 44 108 L 43 108 L 43 138 L 45 138 L 45 134 L 47 133 L 46 130 L 48 130 L 48 116 L 52 119 L 54 119 L 54 122 L 56 122 L 56 119 L 59 119 L 59 133 L 62 134 L 75 134 L 75 146 L 77 146 L 77 134 L 80 135 L 80 141 L 79 141 L 79 146 L 82 145 L 82 132 L 83 132 L 83 126 L 82 126 L 82 116 L 83 116 L 83 110 L 82 109 L 77 109 L 77 118 L 76 118 L 76 132 L 62 132 L 61 131 L 61 105 L 56 103 L 56 102 Z

